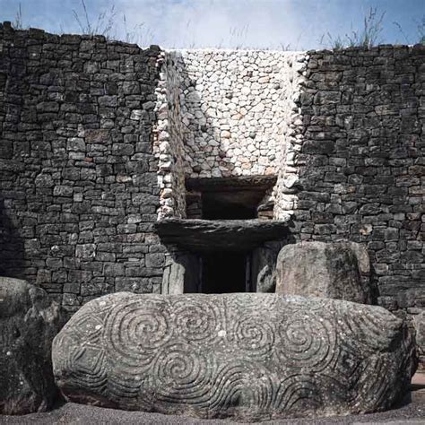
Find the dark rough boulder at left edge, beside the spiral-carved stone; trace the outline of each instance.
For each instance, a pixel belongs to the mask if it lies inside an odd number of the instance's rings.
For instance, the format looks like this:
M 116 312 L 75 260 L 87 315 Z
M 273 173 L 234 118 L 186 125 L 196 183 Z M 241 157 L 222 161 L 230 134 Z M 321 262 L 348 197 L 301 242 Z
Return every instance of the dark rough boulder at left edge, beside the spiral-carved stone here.
M 56 399 L 51 345 L 59 305 L 28 282 L 0 277 L 0 414 L 47 410 Z

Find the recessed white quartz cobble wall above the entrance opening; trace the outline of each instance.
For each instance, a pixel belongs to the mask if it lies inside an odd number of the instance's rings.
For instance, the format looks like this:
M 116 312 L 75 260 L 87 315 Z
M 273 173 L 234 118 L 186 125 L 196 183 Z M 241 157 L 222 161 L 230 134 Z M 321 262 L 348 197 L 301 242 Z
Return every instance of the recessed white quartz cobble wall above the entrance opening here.
M 305 54 L 171 50 L 161 60 L 159 218 L 185 216 L 186 177 L 276 175 L 282 186 L 298 149 L 290 133 Z M 275 195 L 282 216 L 293 202 Z

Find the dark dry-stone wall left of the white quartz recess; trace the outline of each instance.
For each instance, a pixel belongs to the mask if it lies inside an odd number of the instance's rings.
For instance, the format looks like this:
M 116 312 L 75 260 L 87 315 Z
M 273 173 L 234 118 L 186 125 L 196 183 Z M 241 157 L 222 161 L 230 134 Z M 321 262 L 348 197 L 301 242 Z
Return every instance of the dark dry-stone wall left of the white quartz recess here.
M 158 292 L 159 48 L 0 26 L 0 275 L 70 311 Z

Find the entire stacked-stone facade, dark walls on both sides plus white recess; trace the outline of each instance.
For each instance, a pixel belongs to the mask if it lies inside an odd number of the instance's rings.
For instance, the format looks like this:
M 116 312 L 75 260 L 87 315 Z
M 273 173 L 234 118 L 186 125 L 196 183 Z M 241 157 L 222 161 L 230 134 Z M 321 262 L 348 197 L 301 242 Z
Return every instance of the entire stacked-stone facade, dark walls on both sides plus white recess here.
M 375 302 L 425 307 L 425 48 L 163 51 L 0 26 L 0 274 L 69 311 L 160 292 L 186 178 L 277 176 L 292 240 L 368 248 Z M 172 247 L 176 249 L 176 247 Z

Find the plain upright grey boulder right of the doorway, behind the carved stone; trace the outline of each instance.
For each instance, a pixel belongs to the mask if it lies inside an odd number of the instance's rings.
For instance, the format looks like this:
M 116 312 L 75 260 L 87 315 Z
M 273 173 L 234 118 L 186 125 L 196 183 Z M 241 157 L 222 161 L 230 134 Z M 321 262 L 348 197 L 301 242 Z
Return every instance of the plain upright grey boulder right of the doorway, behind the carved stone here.
M 276 292 L 370 303 L 369 256 L 355 242 L 300 242 L 282 247 Z

